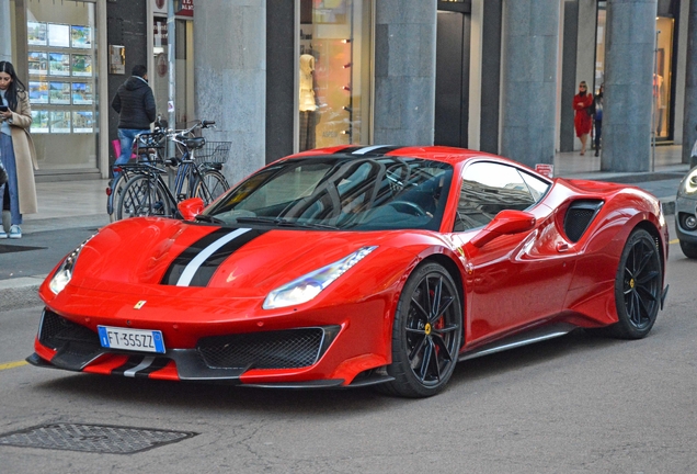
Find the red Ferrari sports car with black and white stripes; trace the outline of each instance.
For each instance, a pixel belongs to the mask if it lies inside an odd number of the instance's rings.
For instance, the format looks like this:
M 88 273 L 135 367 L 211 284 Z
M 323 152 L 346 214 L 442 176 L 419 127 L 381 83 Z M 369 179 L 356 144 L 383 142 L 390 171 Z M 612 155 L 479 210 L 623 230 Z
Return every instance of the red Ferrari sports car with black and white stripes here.
M 311 150 L 179 210 L 56 267 L 32 364 L 423 397 L 574 328 L 642 338 L 667 291 L 654 196 L 459 148 Z

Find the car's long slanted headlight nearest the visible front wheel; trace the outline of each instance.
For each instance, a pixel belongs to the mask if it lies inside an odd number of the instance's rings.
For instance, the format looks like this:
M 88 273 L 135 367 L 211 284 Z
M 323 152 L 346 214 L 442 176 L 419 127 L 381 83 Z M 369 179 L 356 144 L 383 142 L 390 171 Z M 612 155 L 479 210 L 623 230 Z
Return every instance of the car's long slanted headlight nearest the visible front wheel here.
M 315 270 L 268 293 L 262 307 L 275 309 L 279 307 L 307 303 L 320 294 L 334 280 L 358 263 L 377 247 L 363 247 L 343 259 Z

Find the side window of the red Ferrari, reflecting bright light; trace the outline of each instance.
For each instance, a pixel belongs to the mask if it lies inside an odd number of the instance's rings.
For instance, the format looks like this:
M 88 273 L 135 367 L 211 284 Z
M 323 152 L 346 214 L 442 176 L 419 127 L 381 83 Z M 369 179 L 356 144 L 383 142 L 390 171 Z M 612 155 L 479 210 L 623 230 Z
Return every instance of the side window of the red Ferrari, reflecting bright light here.
M 472 163 L 462 173 L 453 230 L 484 226 L 503 210 L 526 210 L 541 196 L 538 191 L 535 194 L 514 167 L 485 161 Z

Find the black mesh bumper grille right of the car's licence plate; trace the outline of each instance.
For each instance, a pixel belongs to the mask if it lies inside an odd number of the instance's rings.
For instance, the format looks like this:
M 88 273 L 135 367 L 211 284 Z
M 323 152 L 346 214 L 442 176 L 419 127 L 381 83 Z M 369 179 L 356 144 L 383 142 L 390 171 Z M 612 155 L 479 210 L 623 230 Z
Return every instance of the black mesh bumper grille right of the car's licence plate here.
M 212 369 L 298 369 L 317 362 L 323 339 L 322 328 L 289 329 L 207 337 L 197 349 Z

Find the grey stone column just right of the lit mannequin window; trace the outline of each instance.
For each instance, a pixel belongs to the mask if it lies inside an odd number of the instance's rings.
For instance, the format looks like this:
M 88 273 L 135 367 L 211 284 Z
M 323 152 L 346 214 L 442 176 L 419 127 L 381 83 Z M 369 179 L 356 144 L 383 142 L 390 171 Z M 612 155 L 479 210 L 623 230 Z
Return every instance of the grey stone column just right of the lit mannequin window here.
M 375 144 L 431 145 L 436 0 L 376 1 Z

